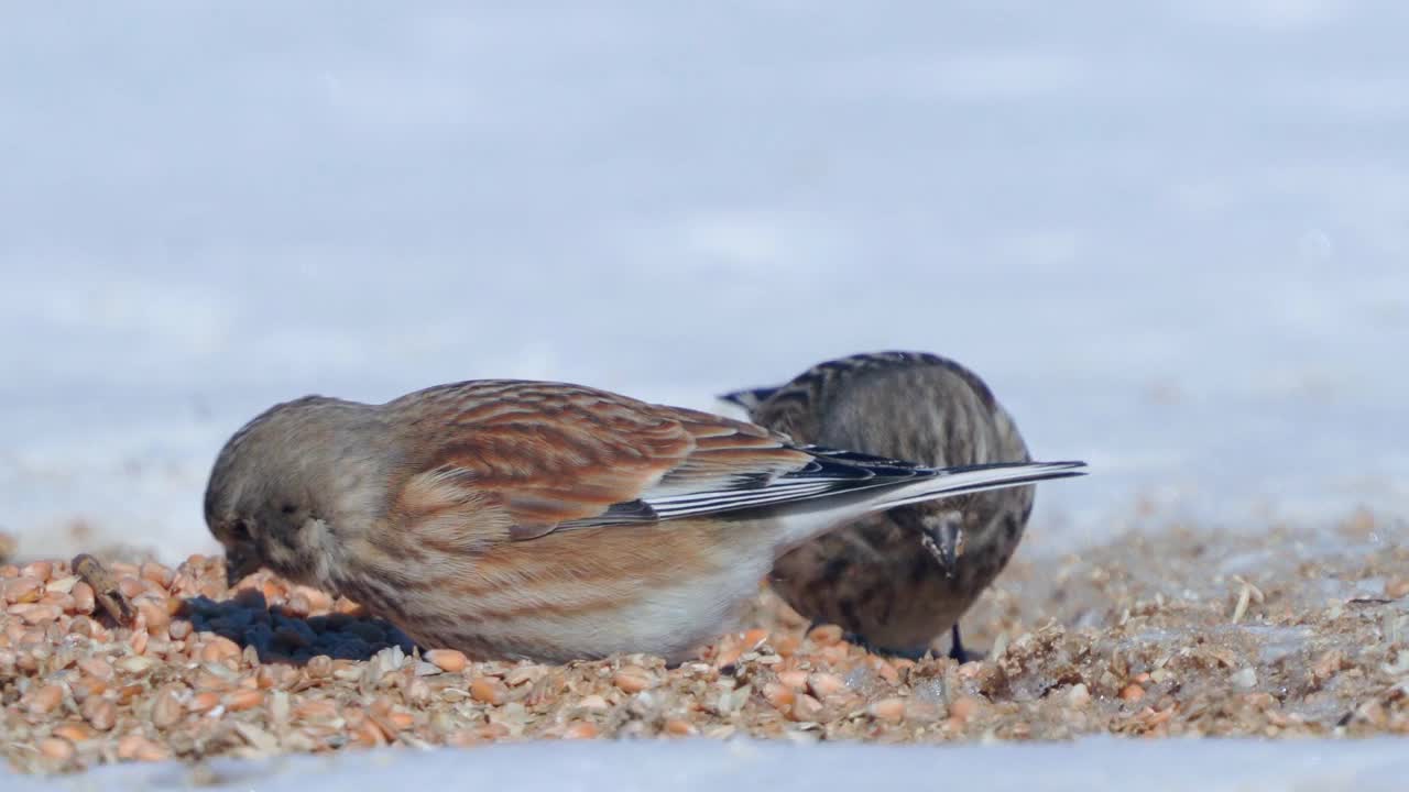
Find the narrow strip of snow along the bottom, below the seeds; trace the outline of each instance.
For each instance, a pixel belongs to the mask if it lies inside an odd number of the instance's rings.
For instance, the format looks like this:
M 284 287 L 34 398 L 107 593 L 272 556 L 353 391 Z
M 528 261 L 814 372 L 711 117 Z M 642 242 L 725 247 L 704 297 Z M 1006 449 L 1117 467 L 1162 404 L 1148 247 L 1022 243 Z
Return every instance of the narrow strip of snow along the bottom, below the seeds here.
M 107 765 L 77 778 L 4 778 L 10 792 L 89 789 L 816 789 L 944 788 L 985 792 L 1355 789 L 1399 792 L 1403 740 L 1160 740 L 962 747 L 796 745 L 764 741 L 531 743 L 431 751 L 359 751 L 263 761 L 220 760 L 201 775 L 175 764 Z M 826 784 L 819 785 L 819 779 Z

